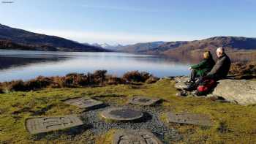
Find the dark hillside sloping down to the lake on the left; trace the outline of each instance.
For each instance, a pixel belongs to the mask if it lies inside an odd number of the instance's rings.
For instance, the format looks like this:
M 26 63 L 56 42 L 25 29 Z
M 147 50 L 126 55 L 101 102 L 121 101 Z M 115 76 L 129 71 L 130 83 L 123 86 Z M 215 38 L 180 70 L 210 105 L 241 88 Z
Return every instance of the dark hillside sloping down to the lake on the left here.
M 109 51 L 92 45 L 83 45 L 78 42 L 56 36 L 37 34 L 23 29 L 15 29 L 0 24 L 0 40 L 4 43 L 11 42 L 15 45 L 23 45 L 29 50 L 64 50 L 64 51 Z M 5 42 L 5 43 L 6 43 Z M 15 47 L 8 47 L 17 49 Z M 25 48 L 26 49 L 26 48 Z

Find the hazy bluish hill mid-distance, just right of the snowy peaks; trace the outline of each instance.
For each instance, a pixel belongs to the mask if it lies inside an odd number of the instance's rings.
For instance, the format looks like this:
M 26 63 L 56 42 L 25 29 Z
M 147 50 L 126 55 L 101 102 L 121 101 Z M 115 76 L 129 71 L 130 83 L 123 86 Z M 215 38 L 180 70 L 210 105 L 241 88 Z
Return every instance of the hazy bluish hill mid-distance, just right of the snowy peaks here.
M 118 47 L 118 51 L 127 52 L 127 53 L 146 53 L 149 50 L 154 50 L 158 48 L 159 45 L 163 45 L 165 42 L 145 42 L 137 43 L 135 45 L 125 45 Z

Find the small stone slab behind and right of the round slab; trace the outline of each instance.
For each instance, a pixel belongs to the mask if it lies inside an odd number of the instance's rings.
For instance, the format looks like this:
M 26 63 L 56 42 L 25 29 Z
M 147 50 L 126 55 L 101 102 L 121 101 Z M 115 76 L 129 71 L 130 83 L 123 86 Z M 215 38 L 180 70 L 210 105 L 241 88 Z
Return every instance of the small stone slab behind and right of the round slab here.
M 161 99 L 149 98 L 144 96 L 135 96 L 129 99 L 129 104 L 135 105 L 154 105 L 156 102 L 159 102 Z

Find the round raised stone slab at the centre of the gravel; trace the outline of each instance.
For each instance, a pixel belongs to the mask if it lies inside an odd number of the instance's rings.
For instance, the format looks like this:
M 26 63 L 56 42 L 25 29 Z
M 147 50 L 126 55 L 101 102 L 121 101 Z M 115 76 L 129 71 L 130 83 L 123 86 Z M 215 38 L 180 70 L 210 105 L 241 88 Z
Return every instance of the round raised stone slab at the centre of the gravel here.
M 114 121 L 134 121 L 142 118 L 143 113 L 140 110 L 134 110 L 130 108 L 118 107 L 104 110 L 101 116 L 106 119 Z

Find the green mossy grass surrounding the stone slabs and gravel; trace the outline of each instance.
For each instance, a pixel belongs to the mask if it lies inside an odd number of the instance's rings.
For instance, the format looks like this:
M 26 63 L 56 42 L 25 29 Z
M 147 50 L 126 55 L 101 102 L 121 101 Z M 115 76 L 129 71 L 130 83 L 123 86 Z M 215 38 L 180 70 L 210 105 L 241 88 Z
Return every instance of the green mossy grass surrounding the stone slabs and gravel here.
M 241 106 L 212 102 L 205 98 L 178 97 L 175 96 L 177 91 L 173 84 L 172 80 L 159 80 L 157 83 L 141 86 L 48 88 L 41 91 L 0 94 L 0 143 L 86 143 L 88 140 L 110 143 L 110 140 L 104 137 L 109 137 L 112 131 L 103 135 L 94 135 L 87 130 L 72 135 L 67 132 L 49 132 L 39 138 L 26 132 L 26 118 L 82 113 L 78 107 L 61 102 L 75 96 L 94 97 L 119 105 L 123 105 L 131 96 L 157 97 L 165 99 L 162 103 L 165 112 L 187 111 L 211 116 L 214 126 L 210 128 L 167 124 L 178 129 L 179 134 L 184 137 L 176 143 L 256 143 L 256 105 Z M 164 113 L 160 119 L 165 121 Z

